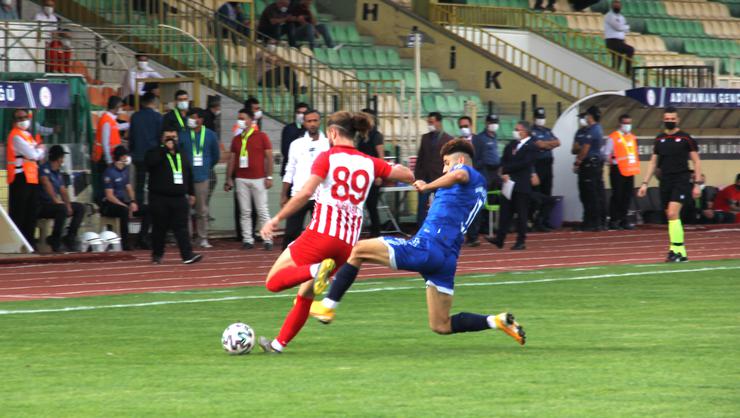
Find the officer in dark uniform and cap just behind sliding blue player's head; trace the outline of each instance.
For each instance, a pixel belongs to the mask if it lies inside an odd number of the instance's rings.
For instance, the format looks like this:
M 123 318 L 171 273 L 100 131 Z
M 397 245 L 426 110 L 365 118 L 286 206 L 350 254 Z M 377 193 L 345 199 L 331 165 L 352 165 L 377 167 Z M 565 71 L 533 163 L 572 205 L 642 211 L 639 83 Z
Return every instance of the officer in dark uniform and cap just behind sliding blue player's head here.
M 497 115 L 486 116 L 486 128 L 478 135 L 473 136 L 473 167 L 486 178 L 486 188 L 488 191 L 501 188 L 501 177 L 498 174 L 501 165 L 501 157 L 498 152 L 498 137 L 496 132 L 499 128 L 499 118 Z M 488 214 L 480 211 L 470 228 L 468 228 L 467 239 L 468 246 L 477 247 L 480 245 L 478 235 L 481 227 L 488 226 Z

